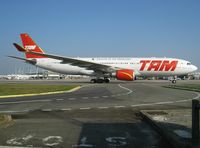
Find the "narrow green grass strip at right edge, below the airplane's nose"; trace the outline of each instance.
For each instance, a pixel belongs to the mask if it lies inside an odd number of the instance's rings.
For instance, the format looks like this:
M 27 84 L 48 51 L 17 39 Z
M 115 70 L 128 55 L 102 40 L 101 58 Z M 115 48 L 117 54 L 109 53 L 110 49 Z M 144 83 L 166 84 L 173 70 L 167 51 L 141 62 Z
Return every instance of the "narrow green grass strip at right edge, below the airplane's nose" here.
M 200 92 L 200 84 L 168 85 L 163 87 Z

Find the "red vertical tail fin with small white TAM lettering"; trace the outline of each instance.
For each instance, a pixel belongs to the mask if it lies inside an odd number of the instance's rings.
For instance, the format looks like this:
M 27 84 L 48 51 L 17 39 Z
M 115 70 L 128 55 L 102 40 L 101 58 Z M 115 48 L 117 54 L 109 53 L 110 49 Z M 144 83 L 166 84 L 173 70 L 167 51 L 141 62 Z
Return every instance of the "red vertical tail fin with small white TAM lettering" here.
M 22 39 L 22 44 L 25 49 L 33 51 L 33 52 L 38 52 L 38 53 L 44 53 L 44 51 L 37 45 L 35 42 L 32 40 L 32 38 L 28 34 L 20 34 L 21 39 Z M 39 55 L 34 55 L 31 53 L 25 53 L 26 58 L 46 58 L 44 56 L 39 56 Z

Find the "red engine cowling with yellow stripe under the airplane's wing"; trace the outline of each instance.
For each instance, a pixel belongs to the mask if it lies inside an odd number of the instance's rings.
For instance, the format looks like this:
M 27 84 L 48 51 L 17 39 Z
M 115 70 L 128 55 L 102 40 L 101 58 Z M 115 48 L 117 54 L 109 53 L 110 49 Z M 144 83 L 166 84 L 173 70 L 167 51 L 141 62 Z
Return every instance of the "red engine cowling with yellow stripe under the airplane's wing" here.
M 116 78 L 118 80 L 133 81 L 135 80 L 135 74 L 134 71 L 130 69 L 117 70 Z

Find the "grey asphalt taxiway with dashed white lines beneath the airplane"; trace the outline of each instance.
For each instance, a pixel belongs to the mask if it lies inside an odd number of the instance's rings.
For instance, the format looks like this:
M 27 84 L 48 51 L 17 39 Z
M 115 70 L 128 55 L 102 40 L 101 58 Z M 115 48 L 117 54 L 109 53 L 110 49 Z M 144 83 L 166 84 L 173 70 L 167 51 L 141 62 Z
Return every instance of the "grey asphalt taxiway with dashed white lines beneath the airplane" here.
M 10 82 L 10 81 L 9 81 Z M 32 83 L 32 81 L 18 81 Z M 87 80 L 86 80 L 87 82 Z M 68 81 L 36 81 L 34 83 L 77 84 L 82 88 L 72 93 L 0 99 L 0 112 L 25 110 L 73 110 L 93 108 L 177 108 L 190 107 L 191 99 L 200 97 L 191 91 L 163 88 L 168 81 L 135 81 L 110 84 L 90 84 Z M 200 81 L 179 81 L 179 83 Z M 13 83 L 13 82 L 12 82 Z M 27 88 L 28 89 L 28 88 Z

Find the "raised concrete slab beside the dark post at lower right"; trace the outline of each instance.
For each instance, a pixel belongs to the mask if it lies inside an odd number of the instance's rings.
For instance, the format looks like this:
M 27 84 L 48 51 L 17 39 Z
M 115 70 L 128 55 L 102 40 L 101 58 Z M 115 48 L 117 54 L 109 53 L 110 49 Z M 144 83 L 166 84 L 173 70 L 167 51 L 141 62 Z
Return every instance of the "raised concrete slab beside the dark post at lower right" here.
M 191 109 L 142 110 L 141 114 L 175 148 L 192 147 Z

